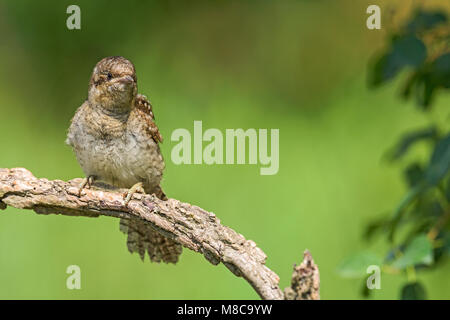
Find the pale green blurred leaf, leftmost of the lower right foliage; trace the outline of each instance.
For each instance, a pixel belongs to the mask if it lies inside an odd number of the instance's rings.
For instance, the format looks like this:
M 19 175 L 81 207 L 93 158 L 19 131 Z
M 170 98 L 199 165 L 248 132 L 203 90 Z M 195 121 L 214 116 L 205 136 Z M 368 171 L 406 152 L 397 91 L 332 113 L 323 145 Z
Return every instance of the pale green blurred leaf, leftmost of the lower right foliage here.
M 382 262 L 383 260 L 378 255 L 363 251 L 342 261 L 337 268 L 337 272 L 345 278 L 361 278 L 367 276 L 367 268 L 369 266 L 381 266 Z

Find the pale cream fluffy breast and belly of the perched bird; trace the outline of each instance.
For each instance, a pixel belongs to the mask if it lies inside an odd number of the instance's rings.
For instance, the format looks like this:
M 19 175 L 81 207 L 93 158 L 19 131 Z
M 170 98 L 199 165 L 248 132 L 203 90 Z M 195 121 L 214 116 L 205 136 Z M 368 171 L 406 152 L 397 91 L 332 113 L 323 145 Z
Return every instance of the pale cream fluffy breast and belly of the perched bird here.
M 72 136 L 77 159 L 86 174 L 116 187 L 129 188 L 143 182 L 146 190 L 159 185 L 164 169 L 159 147 L 139 132 L 123 129 L 119 125 L 102 123 L 96 128 L 78 126 Z M 91 125 L 92 126 L 92 125 Z

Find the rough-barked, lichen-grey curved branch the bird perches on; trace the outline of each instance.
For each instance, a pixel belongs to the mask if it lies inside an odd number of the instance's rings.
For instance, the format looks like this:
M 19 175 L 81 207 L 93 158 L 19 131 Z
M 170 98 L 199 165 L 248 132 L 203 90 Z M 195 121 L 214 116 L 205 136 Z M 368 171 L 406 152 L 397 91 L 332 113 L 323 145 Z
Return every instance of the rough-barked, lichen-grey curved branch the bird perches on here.
M 262 299 L 318 299 L 319 272 L 309 252 L 294 268 L 292 284 L 283 294 L 279 277 L 265 266 L 266 255 L 251 240 L 223 226 L 212 212 L 175 199 L 136 194 L 124 205 L 123 190 L 84 189 L 81 179 L 68 182 L 37 179 L 23 168 L 0 169 L 0 209 L 7 205 L 38 214 L 143 219 L 161 234 L 199 252 L 214 265 L 222 262 L 243 277 Z

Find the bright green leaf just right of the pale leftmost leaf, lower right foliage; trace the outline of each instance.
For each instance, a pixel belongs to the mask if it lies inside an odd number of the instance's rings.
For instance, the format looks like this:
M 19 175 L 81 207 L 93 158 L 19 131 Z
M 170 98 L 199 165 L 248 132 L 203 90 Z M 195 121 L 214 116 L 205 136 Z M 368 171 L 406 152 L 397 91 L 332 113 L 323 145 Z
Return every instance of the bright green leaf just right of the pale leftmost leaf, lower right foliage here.
M 402 256 L 394 260 L 392 267 L 405 269 L 416 264 L 430 265 L 433 262 L 433 246 L 426 234 L 415 237 L 405 248 Z

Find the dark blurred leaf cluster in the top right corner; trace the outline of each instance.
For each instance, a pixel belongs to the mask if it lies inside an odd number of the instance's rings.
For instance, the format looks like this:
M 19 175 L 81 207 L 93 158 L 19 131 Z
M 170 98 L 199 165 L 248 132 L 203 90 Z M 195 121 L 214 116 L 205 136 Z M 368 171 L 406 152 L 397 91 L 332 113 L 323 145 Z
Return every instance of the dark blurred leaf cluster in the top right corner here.
M 448 41 L 447 15 L 417 10 L 412 19 L 391 36 L 386 51 L 375 59 L 369 85 L 379 87 L 407 69 L 409 76 L 403 96 L 415 96 L 421 107 L 428 108 L 437 90 L 450 88 Z

